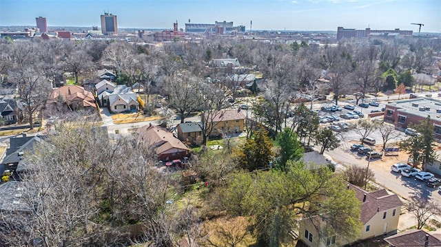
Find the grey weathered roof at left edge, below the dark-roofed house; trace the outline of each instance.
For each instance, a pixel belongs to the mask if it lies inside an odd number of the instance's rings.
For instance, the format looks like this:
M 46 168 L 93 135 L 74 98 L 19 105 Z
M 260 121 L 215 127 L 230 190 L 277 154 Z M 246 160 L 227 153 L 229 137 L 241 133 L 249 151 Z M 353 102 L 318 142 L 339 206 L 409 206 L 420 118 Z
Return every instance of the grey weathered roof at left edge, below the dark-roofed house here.
M 24 188 L 21 182 L 0 184 L 0 211 L 30 211 L 22 199 Z

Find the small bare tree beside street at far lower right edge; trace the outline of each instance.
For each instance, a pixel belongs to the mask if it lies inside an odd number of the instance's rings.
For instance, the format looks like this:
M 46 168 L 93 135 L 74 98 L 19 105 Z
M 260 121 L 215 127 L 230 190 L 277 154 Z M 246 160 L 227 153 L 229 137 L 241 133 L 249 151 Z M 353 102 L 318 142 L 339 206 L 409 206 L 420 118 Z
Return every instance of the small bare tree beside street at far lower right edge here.
M 412 200 L 407 204 L 407 210 L 417 219 L 417 229 L 421 229 L 427 220 L 441 213 L 441 208 L 435 202 L 429 202 L 422 198 Z

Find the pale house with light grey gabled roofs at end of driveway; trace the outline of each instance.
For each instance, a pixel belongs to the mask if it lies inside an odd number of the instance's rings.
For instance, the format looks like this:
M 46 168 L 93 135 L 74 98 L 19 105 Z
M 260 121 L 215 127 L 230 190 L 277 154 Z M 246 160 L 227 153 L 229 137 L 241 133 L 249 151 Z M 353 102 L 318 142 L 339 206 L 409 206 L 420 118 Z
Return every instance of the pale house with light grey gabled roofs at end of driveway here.
M 95 85 L 99 105 L 108 107 L 111 112 L 138 111 L 138 96 L 127 85 L 114 85 L 107 80 L 102 80 Z

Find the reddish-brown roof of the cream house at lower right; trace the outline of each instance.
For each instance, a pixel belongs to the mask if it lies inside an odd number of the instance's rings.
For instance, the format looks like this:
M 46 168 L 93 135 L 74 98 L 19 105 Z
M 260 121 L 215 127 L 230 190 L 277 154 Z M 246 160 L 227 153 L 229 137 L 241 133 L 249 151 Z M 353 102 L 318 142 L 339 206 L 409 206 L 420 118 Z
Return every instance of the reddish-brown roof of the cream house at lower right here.
M 348 184 L 348 189 L 356 191 L 357 199 L 362 202 L 360 220 L 363 224 L 369 222 L 377 213 L 402 206 L 398 195 L 389 194 L 385 189 L 369 193 L 353 184 Z

